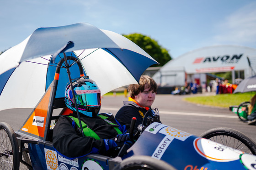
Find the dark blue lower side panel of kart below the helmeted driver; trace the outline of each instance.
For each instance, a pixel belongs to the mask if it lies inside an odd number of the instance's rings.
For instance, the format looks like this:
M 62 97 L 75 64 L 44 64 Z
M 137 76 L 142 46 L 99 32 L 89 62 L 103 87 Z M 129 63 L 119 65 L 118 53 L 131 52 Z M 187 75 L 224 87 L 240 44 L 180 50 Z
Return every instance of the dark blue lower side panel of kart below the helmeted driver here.
M 111 157 L 90 154 L 73 160 L 65 158 L 53 147 L 30 144 L 29 153 L 35 170 L 112 170 L 119 164 Z

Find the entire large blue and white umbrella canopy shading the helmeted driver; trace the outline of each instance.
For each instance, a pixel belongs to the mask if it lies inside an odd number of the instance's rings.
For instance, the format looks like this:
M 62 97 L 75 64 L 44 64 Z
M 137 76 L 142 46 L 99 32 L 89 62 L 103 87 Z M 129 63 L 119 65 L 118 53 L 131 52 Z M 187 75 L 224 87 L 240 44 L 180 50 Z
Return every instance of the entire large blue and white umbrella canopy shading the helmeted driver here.
M 139 82 L 144 70 L 157 64 L 122 35 L 87 23 L 40 28 L 0 55 L 0 110 L 35 107 L 53 81 L 63 52 L 80 60 L 85 75 L 96 81 L 101 95 Z M 72 78 L 80 75 L 75 65 L 70 72 Z M 61 69 L 56 97 L 64 97 L 68 82 L 66 70 Z

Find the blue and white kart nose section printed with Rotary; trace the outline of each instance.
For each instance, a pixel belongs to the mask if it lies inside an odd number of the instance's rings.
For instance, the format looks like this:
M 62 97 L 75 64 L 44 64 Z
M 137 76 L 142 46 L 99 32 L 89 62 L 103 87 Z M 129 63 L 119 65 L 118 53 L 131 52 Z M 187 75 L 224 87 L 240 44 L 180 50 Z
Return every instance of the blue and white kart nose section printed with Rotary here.
M 256 170 L 255 155 L 156 122 L 123 159 L 134 155 L 164 160 L 178 170 Z

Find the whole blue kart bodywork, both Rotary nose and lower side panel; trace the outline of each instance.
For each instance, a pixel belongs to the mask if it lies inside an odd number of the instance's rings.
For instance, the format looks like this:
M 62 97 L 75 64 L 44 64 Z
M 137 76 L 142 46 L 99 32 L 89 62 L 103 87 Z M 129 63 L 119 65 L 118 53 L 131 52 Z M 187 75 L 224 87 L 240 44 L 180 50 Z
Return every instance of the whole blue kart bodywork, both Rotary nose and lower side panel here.
M 50 143 L 29 144 L 29 153 L 35 170 L 112 170 L 122 160 L 138 155 L 164 160 L 177 170 L 256 170 L 255 155 L 156 122 L 144 130 L 122 158 L 91 154 L 69 160 Z

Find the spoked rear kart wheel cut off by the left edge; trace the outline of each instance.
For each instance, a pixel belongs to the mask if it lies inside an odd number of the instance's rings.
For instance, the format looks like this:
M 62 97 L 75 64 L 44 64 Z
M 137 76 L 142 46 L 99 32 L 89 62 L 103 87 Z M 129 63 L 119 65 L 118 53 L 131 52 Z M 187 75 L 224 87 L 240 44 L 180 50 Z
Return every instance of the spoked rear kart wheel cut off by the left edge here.
M 19 145 L 10 125 L 0 123 L 0 169 L 18 170 L 20 167 Z

